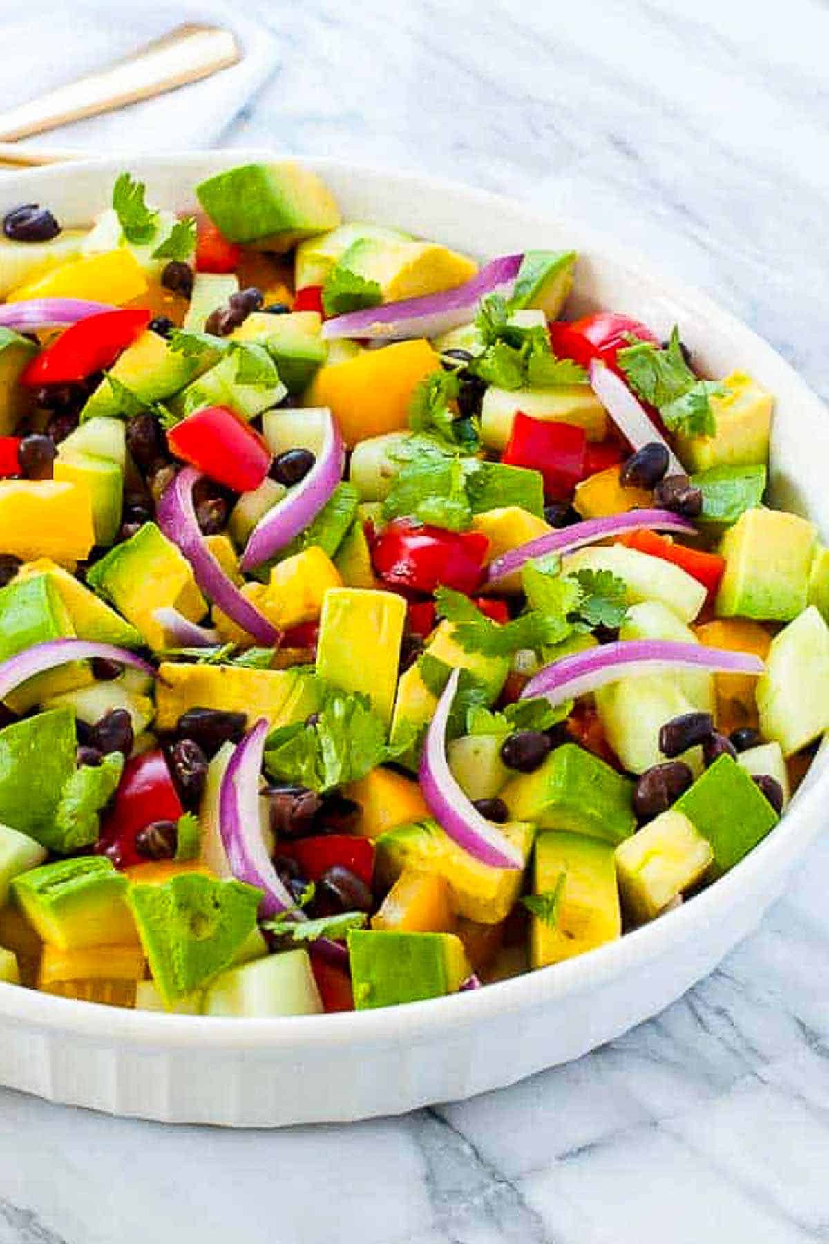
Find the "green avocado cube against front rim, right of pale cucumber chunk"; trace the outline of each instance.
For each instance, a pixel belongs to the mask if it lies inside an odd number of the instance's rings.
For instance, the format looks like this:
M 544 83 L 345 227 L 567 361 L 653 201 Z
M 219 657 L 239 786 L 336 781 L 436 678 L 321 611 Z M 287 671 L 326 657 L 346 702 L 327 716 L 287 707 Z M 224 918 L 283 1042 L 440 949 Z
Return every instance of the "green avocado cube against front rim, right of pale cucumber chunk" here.
M 472 972 L 454 933 L 352 929 L 348 955 L 355 1010 L 442 998 Z

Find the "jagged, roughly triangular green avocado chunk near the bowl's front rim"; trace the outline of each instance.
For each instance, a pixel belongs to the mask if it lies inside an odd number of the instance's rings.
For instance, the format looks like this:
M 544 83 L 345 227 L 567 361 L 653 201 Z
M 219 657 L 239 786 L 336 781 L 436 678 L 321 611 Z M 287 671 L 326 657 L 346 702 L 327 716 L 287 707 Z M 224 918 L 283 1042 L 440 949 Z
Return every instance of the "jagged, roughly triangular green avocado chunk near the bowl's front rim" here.
M 129 888 L 129 908 L 165 1003 L 191 994 L 230 967 L 256 927 L 261 897 L 254 886 L 199 872 Z

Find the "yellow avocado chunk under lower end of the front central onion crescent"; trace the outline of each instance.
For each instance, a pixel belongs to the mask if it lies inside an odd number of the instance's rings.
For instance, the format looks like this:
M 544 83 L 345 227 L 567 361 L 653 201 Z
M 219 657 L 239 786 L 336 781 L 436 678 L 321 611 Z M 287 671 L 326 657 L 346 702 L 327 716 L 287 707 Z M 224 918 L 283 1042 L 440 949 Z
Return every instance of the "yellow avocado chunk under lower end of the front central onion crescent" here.
M 529 858 L 533 827 L 523 822 L 500 825 L 501 832 Z M 437 825 L 425 820 L 398 825 L 374 840 L 375 876 L 382 886 L 392 886 L 404 868 L 434 872 L 451 891 L 459 916 L 480 924 L 497 924 L 512 911 L 521 892 L 520 868 L 493 868 L 459 847 Z

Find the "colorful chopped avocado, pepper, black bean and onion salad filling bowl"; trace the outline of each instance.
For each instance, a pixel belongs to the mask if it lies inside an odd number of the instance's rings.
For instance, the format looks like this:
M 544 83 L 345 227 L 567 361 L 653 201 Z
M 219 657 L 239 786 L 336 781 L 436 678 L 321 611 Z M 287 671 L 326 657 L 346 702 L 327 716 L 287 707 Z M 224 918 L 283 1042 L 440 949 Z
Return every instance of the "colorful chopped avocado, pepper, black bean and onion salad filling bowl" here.
M 342 220 L 287 162 L 152 190 L 4 216 L 2 978 L 389 1006 L 740 865 L 829 729 L 774 396 L 573 318 L 574 251 Z

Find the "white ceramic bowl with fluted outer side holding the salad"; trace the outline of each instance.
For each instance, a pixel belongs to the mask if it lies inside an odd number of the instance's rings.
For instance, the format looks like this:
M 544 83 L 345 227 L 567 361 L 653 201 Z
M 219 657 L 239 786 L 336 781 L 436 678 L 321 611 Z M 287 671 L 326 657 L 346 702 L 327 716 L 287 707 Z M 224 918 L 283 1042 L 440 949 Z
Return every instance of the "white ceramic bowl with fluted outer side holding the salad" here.
M 263 152 L 131 159 L 163 207 Z M 272 154 L 270 158 L 273 158 Z M 313 159 L 346 218 L 398 225 L 492 256 L 526 248 L 582 254 L 569 310 L 626 311 L 666 336 L 677 322 L 705 371 L 751 372 L 777 396 L 772 486 L 778 505 L 829 535 L 829 422 L 822 403 L 753 332 L 708 299 L 662 279 L 628 246 L 575 221 L 428 178 Z M 63 224 L 108 203 L 119 160 L 7 175 L 0 209 L 39 200 Z M 741 865 L 671 914 L 554 968 L 477 991 L 388 1010 L 272 1020 L 117 1010 L 0 984 L 0 1082 L 118 1115 L 232 1127 L 354 1120 L 467 1097 L 575 1059 L 656 1014 L 711 972 L 777 897 L 820 831 L 824 746 L 782 824 Z

